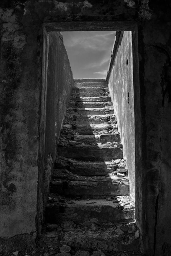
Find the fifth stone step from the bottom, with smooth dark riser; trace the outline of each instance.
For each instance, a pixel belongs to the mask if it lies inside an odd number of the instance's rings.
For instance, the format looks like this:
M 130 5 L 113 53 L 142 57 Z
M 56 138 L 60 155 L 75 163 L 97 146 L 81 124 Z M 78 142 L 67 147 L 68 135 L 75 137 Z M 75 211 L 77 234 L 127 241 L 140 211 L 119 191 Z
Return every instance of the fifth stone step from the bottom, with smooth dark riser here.
M 58 147 L 58 156 L 85 161 L 110 161 L 123 157 L 122 148 L 82 145 L 78 147 Z

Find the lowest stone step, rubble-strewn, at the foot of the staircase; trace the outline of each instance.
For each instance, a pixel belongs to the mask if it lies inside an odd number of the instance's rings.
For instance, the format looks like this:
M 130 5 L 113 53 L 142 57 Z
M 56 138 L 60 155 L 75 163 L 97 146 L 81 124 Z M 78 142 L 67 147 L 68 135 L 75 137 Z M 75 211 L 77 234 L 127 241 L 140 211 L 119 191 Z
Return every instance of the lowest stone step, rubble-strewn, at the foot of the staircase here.
M 82 226 L 81 228 L 80 225 L 68 220 L 63 220 L 60 225 L 47 223 L 46 232 L 41 234 L 40 241 L 50 249 L 58 244 L 67 245 L 67 249 L 72 248 L 77 251 L 76 254 L 74 253 L 75 255 L 89 256 L 91 252 L 93 256 L 144 256 L 140 252 L 140 239 L 137 237 L 139 231 L 134 222 L 111 222 L 107 226 L 96 224 L 96 219 L 92 218 L 91 223 L 90 227 Z M 54 249 L 51 254 L 54 254 Z

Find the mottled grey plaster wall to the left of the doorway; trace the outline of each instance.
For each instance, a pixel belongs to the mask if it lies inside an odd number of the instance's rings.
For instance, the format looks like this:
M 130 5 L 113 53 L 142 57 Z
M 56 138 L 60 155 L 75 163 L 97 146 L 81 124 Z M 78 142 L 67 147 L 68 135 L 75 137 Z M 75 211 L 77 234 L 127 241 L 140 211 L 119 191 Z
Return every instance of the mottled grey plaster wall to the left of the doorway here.
M 17 12 L 0 9 L 1 237 L 36 231 L 40 46 Z

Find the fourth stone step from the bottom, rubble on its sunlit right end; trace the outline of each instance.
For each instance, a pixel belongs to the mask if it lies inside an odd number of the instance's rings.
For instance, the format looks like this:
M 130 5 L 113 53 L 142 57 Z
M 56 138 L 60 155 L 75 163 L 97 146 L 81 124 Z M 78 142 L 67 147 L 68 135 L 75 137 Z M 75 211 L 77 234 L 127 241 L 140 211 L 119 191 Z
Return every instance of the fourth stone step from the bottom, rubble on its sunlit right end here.
M 112 161 L 78 161 L 75 159 L 57 157 L 54 168 L 62 168 L 71 171 L 73 174 L 83 176 L 100 176 L 113 173 L 117 168 L 125 169 L 125 161 L 117 159 Z

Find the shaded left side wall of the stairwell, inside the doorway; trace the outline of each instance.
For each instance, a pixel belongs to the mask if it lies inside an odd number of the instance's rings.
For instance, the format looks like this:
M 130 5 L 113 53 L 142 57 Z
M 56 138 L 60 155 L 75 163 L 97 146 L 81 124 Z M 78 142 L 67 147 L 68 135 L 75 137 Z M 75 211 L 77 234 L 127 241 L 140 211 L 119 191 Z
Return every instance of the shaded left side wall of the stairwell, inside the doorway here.
M 46 32 L 44 29 L 43 56 L 37 218 L 39 233 L 56 155 L 56 145 L 73 86 L 73 74 L 60 32 Z

